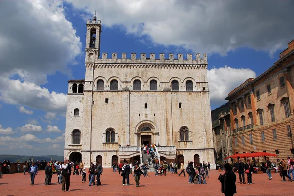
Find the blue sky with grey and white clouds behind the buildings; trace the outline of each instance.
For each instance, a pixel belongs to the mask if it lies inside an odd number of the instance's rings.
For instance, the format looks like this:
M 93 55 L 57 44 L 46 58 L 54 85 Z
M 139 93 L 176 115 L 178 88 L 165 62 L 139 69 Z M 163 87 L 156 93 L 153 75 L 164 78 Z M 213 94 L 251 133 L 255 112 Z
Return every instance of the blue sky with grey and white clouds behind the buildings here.
M 63 155 L 67 80 L 85 77 L 86 19 L 101 53 L 207 53 L 212 109 L 294 39 L 292 0 L 1 0 L 1 154 Z

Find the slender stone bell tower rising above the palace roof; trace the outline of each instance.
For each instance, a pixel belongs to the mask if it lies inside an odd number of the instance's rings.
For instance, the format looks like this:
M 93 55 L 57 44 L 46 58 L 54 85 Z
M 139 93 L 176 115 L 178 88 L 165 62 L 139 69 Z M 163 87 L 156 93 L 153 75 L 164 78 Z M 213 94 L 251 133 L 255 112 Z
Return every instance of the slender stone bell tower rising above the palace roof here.
M 86 63 L 94 63 L 100 57 L 101 21 L 96 19 L 96 13 L 91 20 L 87 20 L 86 35 Z

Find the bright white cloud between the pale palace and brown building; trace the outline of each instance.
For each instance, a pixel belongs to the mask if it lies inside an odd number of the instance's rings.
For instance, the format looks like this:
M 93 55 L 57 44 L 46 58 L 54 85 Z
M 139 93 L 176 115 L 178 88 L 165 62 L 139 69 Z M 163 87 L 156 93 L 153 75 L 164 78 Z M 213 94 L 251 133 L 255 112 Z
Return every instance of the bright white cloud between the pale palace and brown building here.
M 220 105 L 226 102 L 224 98 L 228 96 L 229 92 L 248 78 L 255 78 L 256 74 L 251 69 L 235 69 L 225 66 L 208 70 L 207 76 L 211 103 L 212 105 Z

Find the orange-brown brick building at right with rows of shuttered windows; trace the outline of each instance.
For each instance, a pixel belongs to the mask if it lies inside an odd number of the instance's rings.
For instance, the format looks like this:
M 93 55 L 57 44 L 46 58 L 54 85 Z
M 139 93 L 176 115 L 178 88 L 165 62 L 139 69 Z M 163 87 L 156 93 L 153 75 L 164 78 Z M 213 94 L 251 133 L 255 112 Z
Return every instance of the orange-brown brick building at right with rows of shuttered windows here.
M 294 158 L 293 87 L 294 40 L 268 70 L 228 94 L 233 153 L 270 152 Z

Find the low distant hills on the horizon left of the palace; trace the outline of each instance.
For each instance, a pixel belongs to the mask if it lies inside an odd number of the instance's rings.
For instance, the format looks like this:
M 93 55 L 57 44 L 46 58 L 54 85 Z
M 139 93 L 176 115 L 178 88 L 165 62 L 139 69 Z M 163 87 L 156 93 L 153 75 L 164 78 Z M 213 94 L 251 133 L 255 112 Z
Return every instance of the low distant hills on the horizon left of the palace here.
M 34 156 L 34 161 L 41 161 L 41 160 L 46 160 L 50 161 L 52 159 L 55 161 L 63 161 L 63 156 L 57 156 L 57 155 L 42 155 L 42 156 Z M 11 163 L 20 161 L 20 162 L 25 162 L 31 159 L 32 156 L 20 156 L 20 155 L 0 155 L 0 163 L 3 162 L 4 160 L 9 160 Z

